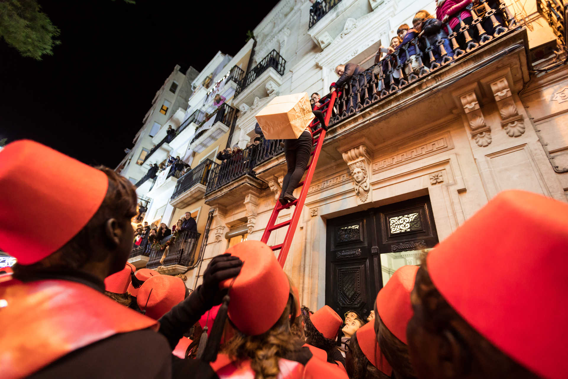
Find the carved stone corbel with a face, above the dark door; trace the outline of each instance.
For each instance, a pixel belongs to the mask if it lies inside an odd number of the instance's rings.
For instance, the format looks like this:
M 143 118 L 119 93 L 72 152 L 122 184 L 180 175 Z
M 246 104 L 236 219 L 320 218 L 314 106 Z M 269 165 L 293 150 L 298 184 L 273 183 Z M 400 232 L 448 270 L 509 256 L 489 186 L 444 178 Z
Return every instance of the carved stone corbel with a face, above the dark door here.
M 372 202 L 370 184 L 370 164 L 371 157 L 369 149 L 365 144 L 349 149 L 341 153 L 343 160 L 349 166 L 349 171 L 353 177 L 353 188 L 357 195 L 357 204 Z

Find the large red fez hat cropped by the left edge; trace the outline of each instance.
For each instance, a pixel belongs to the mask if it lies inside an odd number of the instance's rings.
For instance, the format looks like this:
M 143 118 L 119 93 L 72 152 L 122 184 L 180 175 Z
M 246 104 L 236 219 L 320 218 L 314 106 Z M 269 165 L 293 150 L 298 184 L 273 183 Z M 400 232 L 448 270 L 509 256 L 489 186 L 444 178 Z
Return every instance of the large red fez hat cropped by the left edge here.
M 0 152 L 0 246 L 30 265 L 68 243 L 105 199 L 108 178 L 101 170 L 30 140 Z M 50 219 L 23 233 L 31 218 Z

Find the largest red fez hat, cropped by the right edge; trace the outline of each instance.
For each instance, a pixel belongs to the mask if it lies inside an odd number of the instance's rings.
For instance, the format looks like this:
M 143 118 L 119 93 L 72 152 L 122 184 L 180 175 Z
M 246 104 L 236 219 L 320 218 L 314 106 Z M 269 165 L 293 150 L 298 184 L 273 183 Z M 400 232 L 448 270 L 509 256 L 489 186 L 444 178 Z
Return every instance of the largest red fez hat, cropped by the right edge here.
M 568 205 L 519 190 L 496 195 L 429 252 L 449 305 L 503 353 L 546 378 L 568 373 Z

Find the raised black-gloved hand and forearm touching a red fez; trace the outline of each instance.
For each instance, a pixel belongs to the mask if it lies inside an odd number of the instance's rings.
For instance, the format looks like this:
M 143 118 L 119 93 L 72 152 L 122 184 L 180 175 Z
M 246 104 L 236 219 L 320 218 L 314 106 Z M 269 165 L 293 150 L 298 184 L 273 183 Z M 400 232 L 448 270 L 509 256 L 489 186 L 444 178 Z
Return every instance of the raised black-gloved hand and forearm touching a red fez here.
M 160 332 L 168 339 L 172 350 L 179 339 L 211 307 L 221 303 L 227 290 L 220 290 L 219 283 L 237 276 L 243 262 L 228 253 L 214 257 L 203 273 L 203 284 L 172 310 L 160 318 Z

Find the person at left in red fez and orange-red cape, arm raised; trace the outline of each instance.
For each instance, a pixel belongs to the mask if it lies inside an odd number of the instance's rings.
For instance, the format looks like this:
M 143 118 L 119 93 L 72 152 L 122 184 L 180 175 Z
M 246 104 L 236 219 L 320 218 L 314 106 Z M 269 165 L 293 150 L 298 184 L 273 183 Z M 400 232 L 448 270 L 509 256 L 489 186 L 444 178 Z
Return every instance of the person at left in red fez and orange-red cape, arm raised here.
M 136 192 L 126 178 L 15 141 L 0 152 L 0 209 L 0 245 L 18 260 L 0 276 L 0 313 L 10 325 L 0 344 L 3 379 L 171 375 L 177 328 L 185 327 L 179 311 L 162 316 L 158 334 L 156 320 L 103 294 L 103 280 L 125 268 L 132 249 Z M 10 227 L 37 209 L 59 222 L 25 233 Z M 214 302 L 203 298 L 239 273 L 240 261 L 221 259 L 178 305 L 186 319 L 199 319 Z

